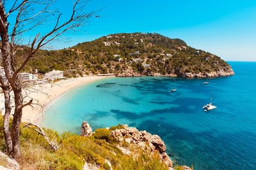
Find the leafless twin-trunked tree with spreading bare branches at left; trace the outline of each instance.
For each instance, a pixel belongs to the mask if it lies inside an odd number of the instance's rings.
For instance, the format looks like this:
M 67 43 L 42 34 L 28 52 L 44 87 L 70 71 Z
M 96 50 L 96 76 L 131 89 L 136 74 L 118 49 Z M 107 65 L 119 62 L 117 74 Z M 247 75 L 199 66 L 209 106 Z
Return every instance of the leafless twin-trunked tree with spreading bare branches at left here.
M 8 4 L 7 4 L 8 3 Z M 52 10 L 54 0 L 0 0 L 0 35 L 1 35 L 1 65 L 4 76 L 0 74 L 0 84 L 5 99 L 4 113 L 4 138 L 8 153 L 14 159 L 20 157 L 20 123 L 22 109 L 32 104 L 33 100 L 24 103 L 22 96 L 22 82 L 19 73 L 35 57 L 40 48 L 44 48 L 56 38 L 67 31 L 76 30 L 83 26 L 93 12 L 86 13 L 84 8 L 88 1 L 75 0 L 70 9 L 69 18 L 65 19 L 58 10 Z M 45 27 L 47 25 L 47 27 Z M 35 30 L 45 27 L 46 31 Z M 42 30 L 42 29 L 41 29 Z M 22 41 L 22 34 L 31 32 L 28 42 Z M 19 55 L 18 55 L 19 53 Z M 12 111 L 10 103 L 10 91 L 14 94 L 14 113 L 11 127 L 9 127 L 10 114 Z

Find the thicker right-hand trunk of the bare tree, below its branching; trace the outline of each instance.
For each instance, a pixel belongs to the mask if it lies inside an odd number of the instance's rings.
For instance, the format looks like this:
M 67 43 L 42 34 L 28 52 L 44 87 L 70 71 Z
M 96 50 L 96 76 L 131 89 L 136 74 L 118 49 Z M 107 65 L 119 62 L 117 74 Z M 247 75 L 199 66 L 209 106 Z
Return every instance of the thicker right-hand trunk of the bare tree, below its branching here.
M 18 80 L 19 81 L 19 80 Z M 22 90 L 13 89 L 14 97 L 15 97 L 15 111 L 13 115 L 12 121 L 12 157 L 16 160 L 20 158 L 20 123 L 22 118 L 22 104 L 23 104 L 23 96 Z

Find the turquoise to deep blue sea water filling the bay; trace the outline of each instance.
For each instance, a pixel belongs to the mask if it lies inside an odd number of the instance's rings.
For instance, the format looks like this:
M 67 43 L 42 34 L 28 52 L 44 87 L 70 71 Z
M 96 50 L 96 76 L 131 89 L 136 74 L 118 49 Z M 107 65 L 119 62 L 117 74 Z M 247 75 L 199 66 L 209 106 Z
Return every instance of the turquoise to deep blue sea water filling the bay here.
M 256 168 L 256 62 L 230 62 L 235 76 L 205 80 L 106 78 L 70 90 L 42 125 L 59 132 L 129 124 L 159 134 L 168 155 L 195 169 Z M 213 103 L 217 110 L 204 112 Z

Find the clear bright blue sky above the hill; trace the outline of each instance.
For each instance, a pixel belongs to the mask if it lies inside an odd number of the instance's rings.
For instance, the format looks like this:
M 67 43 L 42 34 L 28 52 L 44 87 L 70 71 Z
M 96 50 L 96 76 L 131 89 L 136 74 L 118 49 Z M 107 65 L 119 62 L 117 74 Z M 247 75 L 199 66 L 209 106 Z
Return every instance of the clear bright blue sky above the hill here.
M 72 3 L 56 0 L 53 8 L 67 18 Z M 227 61 L 256 61 L 256 0 L 91 0 L 84 10 L 100 17 L 52 48 L 120 32 L 157 32 Z

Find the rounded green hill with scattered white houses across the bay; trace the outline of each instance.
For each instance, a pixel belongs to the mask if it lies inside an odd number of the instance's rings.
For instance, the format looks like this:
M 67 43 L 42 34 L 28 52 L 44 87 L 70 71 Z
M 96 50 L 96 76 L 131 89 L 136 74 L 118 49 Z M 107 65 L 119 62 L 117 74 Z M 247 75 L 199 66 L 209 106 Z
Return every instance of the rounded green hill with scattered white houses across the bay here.
M 205 77 L 233 75 L 220 57 L 156 33 L 103 36 L 63 50 L 42 50 L 27 69 L 60 69 L 66 76 L 115 73 L 116 76 Z

